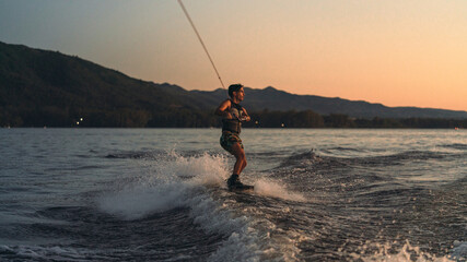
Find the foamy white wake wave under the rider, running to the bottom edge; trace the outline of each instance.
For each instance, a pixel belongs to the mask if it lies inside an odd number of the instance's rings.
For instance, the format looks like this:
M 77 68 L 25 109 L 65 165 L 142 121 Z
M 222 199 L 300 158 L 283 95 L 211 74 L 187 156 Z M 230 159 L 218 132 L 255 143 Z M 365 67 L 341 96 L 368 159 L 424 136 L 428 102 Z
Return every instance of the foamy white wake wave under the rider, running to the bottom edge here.
M 284 247 L 293 249 L 291 241 L 281 241 L 280 247 L 273 243 L 270 230 L 276 226 L 256 216 L 255 203 L 257 198 L 305 201 L 300 193 L 288 191 L 275 180 L 261 178 L 249 178 L 255 184 L 253 193 L 229 192 L 225 186 L 229 165 L 224 155 L 187 157 L 171 152 L 167 157 L 157 158 L 149 165 L 152 165 L 149 174 L 103 193 L 96 200 L 98 209 L 129 222 L 187 209 L 190 221 L 178 223 L 194 223 L 206 234 L 222 239 L 215 252 L 208 258 L 211 261 L 257 261 L 264 257 L 282 258 L 293 253 L 281 252 Z M 126 179 L 122 181 L 128 182 Z M 245 209 L 248 212 L 245 213 Z

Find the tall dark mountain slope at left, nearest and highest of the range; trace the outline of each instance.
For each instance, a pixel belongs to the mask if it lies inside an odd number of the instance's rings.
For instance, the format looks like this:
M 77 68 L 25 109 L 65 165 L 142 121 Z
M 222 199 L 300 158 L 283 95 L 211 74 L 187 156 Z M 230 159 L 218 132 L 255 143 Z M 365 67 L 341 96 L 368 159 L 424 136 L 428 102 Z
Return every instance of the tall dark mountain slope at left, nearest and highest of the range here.
M 0 126 L 141 127 L 199 103 L 176 85 L 129 78 L 78 57 L 0 43 Z

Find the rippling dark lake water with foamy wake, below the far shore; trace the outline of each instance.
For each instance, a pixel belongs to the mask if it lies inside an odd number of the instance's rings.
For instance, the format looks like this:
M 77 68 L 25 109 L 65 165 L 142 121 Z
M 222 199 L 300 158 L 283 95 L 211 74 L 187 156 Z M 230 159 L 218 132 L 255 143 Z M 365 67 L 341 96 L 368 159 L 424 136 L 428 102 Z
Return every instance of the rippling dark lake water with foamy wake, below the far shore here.
M 0 261 L 466 261 L 467 131 L 0 129 Z

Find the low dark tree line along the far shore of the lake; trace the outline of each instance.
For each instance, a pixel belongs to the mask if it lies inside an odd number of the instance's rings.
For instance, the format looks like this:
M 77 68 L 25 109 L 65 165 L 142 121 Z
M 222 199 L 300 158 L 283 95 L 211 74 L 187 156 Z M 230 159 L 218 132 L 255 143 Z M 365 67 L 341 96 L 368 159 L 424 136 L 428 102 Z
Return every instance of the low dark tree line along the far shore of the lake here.
M 10 109 L 10 110 L 9 110 Z M 467 119 L 440 118 L 351 118 L 347 115 L 322 116 L 312 110 L 255 111 L 244 128 L 466 128 Z M 90 127 L 90 128 L 219 128 L 213 110 L 171 108 L 162 111 L 120 108 L 85 110 L 75 108 L 0 108 L 0 127 Z

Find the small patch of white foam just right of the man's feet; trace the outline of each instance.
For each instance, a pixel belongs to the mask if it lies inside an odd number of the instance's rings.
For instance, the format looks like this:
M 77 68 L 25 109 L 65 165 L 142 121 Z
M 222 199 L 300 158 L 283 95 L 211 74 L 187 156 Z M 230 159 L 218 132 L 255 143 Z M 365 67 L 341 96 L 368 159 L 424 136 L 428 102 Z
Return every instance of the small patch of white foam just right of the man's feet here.
M 285 187 L 279 184 L 279 182 L 267 179 L 259 179 L 255 182 L 255 193 L 299 202 L 306 201 L 302 194 L 290 192 Z

